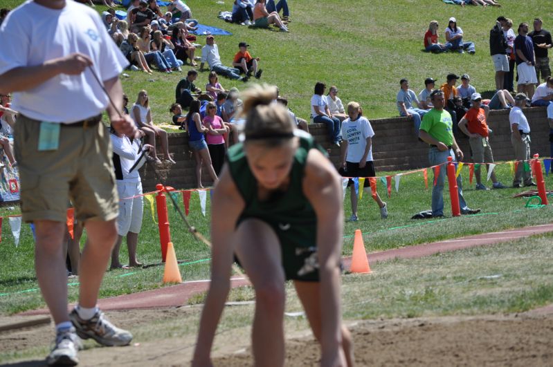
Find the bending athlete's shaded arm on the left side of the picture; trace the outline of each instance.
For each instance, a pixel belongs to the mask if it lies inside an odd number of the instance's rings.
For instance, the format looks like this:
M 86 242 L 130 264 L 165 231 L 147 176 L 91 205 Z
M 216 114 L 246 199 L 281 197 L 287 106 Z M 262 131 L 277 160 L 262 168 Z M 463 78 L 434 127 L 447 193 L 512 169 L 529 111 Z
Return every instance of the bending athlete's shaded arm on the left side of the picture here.
M 198 339 L 192 366 L 210 366 L 210 351 L 230 289 L 230 267 L 233 263 L 232 242 L 238 216 L 244 209 L 228 167 L 223 168 L 215 185 L 211 205 L 211 284 L 201 312 Z

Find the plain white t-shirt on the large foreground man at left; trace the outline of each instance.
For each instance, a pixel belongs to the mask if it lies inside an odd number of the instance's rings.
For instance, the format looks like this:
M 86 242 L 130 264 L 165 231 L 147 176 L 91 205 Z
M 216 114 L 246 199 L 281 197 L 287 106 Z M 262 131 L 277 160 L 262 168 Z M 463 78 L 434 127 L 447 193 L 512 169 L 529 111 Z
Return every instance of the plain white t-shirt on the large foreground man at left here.
M 91 57 L 91 67 L 102 81 L 118 77 L 128 65 L 98 12 L 75 1 L 66 1 L 61 10 L 26 1 L 3 21 L 0 45 L 0 74 L 71 53 Z M 71 123 L 102 113 L 108 102 L 87 68 L 80 75 L 56 75 L 35 88 L 13 93 L 12 106 L 35 120 Z

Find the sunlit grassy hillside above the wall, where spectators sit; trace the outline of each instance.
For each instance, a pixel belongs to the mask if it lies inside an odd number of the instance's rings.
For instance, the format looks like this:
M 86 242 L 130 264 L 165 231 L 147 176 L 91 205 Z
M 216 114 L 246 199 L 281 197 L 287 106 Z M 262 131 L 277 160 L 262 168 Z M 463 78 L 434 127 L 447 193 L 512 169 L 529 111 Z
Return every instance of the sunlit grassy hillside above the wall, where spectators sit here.
M 495 19 L 499 15 L 513 19 L 515 32 L 523 21 L 531 23 L 532 28 L 535 17 L 543 19 L 545 29 L 553 27 L 550 1 L 543 0 L 502 0 L 501 8 L 462 8 L 440 0 L 289 0 L 290 33 L 226 23 L 217 15 L 230 10 L 232 1 L 226 0 L 224 5 L 218 2 L 187 1 L 192 15 L 201 23 L 233 32 L 232 36 L 216 37 L 221 60 L 229 65 L 238 42 L 247 41 L 252 55 L 262 59 L 262 82 L 278 85 L 291 109 L 304 118 L 309 117 L 309 100 L 317 81 L 338 86 L 344 104 L 351 100 L 361 102 L 370 118 L 397 115 L 395 96 L 402 77 L 410 79 L 411 88 L 417 93 L 424 88 L 426 77 L 444 82 L 448 73 L 469 73 L 471 84 L 479 92 L 493 90 L 488 39 Z M 18 3 L 21 1 L 3 0 L 0 6 L 14 7 Z M 457 18 L 466 41 L 475 42 L 475 55 L 422 52 L 428 23 L 439 21 L 440 41 L 445 41 L 449 17 Z M 198 37 L 197 43 L 205 44 L 205 37 Z M 199 50 L 197 55 L 201 55 Z M 129 99 L 136 100 L 138 91 L 145 88 L 151 98 L 154 122 L 169 122 L 174 87 L 185 73 L 154 73 L 152 77 L 127 73 L 123 86 Z M 207 77 L 207 72 L 200 73 L 197 85 L 204 88 Z M 224 88 L 244 88 L 244 83 L 226 78 L 220 82 Z

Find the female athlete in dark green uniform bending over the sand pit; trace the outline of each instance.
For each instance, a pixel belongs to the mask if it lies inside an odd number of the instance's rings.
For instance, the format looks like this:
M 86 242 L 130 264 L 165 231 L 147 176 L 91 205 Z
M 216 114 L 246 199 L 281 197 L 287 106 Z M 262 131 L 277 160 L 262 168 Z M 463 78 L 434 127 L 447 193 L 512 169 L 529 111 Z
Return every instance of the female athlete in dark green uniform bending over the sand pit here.
M 274 87 L 246 92 L 246 124 L 213 193 L 211 286 L 192 366 L 211 366 L 234 259 L 255 288 L 255 366 L 284 366 L 284 281 L 292 279 L 320 342 L 323 366 L 351 366 L 341 321 L 341 179 L 311 135 L 296 129 Z M 267 337 L 269 336 L 269 337 Z

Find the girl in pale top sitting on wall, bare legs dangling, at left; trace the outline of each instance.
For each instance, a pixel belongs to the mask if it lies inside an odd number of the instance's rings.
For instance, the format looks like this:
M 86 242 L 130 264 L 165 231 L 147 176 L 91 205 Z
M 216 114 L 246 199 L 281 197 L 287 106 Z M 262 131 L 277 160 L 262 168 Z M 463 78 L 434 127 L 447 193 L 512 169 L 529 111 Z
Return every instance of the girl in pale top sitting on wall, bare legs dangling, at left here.
M 154 149 L 150 151 L 152 158 L 160 162 L 156 155 L 156 136 L 161 140 L 161 149 L 165 155 L 165 160 L 170 163 L 175 163 L 169 154 L 169 141 L 167 140 L 167 132 L 158 126 L 154 125 L 152 121 L 152 111 L 149 109 L 149 97 L 145 90 L 138 92 L 136 102 L 132 105 L 131 115 L 138 126 L 138 129 L 143 131 L 146 135 L 148 144 L 152 145 Z

